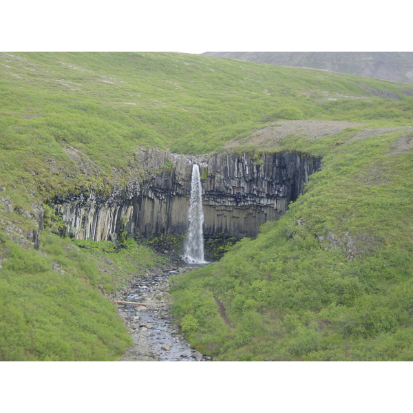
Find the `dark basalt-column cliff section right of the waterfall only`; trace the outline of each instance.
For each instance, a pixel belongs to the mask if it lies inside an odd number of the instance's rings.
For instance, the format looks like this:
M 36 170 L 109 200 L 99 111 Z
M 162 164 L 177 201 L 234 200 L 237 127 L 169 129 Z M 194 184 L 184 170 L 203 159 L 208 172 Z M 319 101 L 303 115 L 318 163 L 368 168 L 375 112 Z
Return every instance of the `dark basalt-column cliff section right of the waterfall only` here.
M 260 225 L 286 212 L 319 166 L 319 160 L 295 153 L 210 158 L 204 180 L 205 235 L 257 235 Z

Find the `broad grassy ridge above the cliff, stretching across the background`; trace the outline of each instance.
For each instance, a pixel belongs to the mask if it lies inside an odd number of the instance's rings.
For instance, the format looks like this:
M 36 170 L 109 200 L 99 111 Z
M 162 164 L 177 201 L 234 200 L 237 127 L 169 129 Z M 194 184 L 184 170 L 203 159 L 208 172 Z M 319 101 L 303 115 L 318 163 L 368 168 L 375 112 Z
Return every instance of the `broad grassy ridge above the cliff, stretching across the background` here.
M 277 120 L 411 125 L 412 96 L 413 85 L 207 56 L 0 53 L 0 187 L 28 210 L 117 183 L 137 147 L 220 151 Z

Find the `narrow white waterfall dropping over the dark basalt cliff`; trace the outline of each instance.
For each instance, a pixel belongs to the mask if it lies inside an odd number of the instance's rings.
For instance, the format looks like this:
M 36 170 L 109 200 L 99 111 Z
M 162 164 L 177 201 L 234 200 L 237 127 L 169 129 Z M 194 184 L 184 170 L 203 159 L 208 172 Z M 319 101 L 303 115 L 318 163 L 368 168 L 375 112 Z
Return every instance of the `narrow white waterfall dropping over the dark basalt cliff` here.
M 189 201 L 189 228 L 185 241 L 184 260 L 189 264 L 205 264 L 204 261 L 204 212 L 202 211 L 202 186 L 200 168 L 192 167 L 191 199 Z

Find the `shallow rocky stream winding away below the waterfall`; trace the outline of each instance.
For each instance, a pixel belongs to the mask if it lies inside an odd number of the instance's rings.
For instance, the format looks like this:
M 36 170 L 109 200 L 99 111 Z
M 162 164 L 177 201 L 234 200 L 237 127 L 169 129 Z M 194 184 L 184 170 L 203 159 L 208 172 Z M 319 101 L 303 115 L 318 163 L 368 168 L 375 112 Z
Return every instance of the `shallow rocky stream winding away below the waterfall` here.
M 120 294 L 119 301 L 145 304 L 118 304 L 118 312 L 134 340 L 134 347 L 129 348 L 120 361 L 212 360 L 189 346 L 170 312 L 169 278 L 191 269 L 164 268 L 136 280 Z

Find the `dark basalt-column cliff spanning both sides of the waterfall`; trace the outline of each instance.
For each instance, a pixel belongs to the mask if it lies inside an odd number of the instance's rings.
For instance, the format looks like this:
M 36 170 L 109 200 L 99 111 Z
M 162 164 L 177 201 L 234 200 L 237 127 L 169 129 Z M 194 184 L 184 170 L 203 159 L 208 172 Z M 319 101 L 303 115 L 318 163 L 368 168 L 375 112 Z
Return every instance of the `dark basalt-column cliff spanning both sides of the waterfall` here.
M 193 162 L 200 165 L 206 237 L 256 235 L 303 191 L 319 158 L 297 153 L 186 156 L 158 149 L 136 154 L 136 176 L 107 198 L 93 191 L 55 200 L 65 232 L 76 239 L 186 233 Z M 130 174 L 130 171 L 129 171 Z

